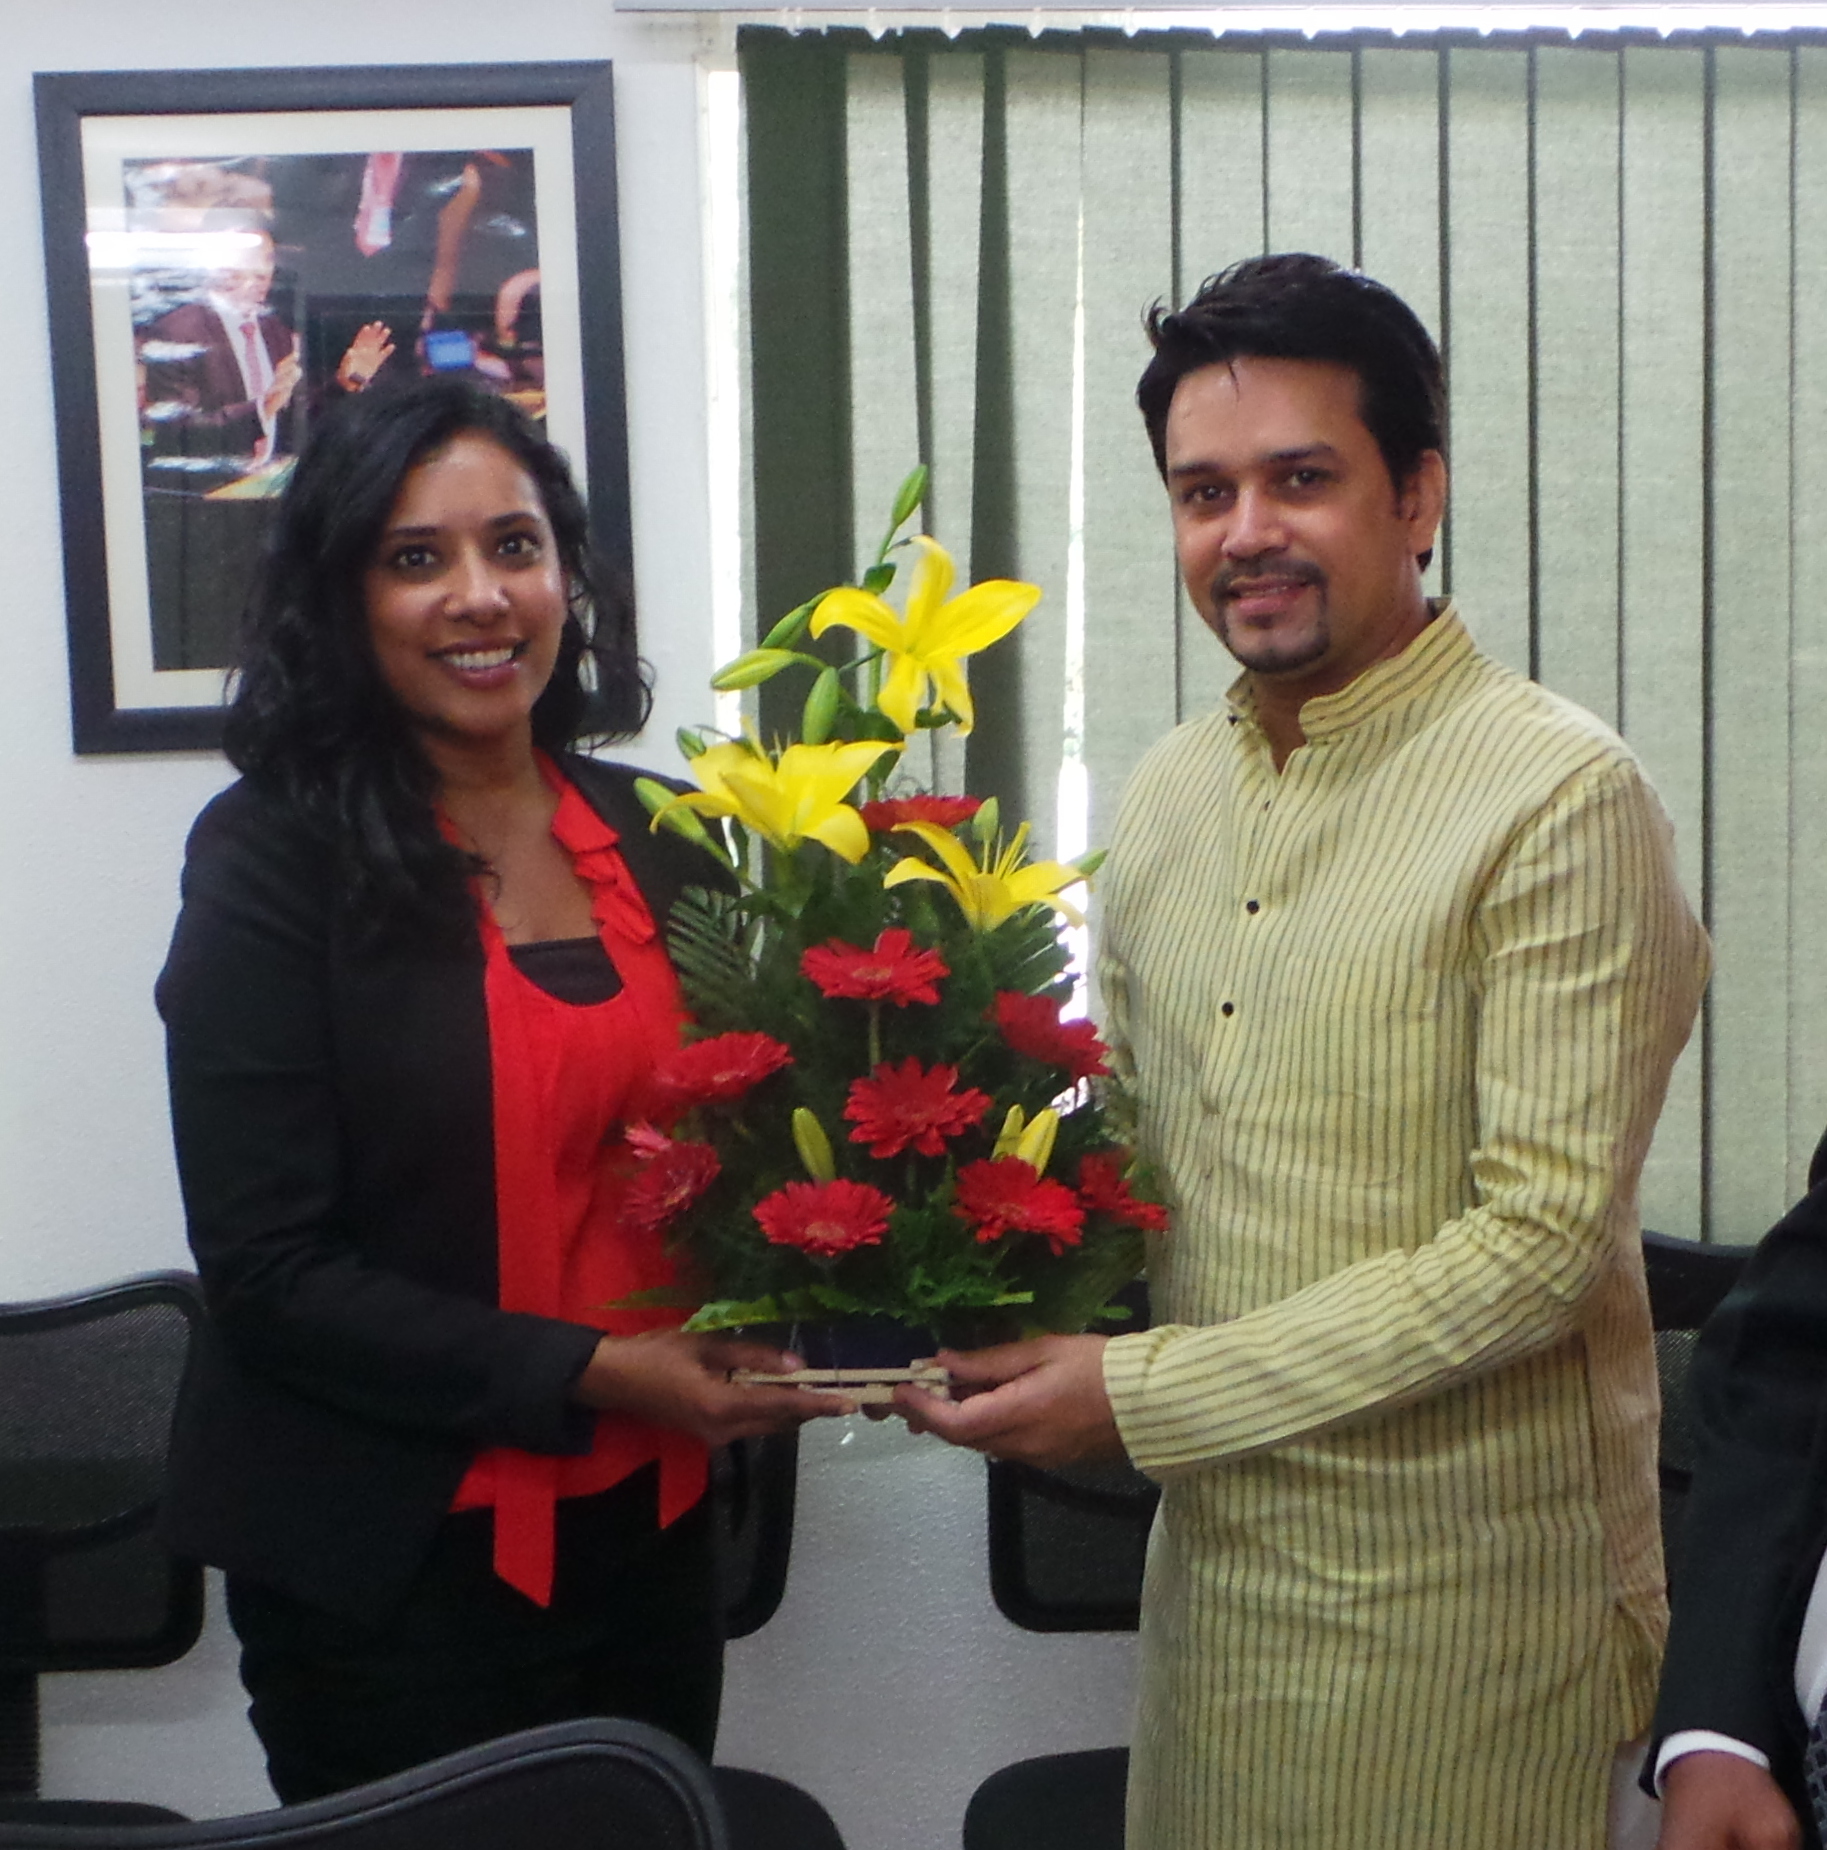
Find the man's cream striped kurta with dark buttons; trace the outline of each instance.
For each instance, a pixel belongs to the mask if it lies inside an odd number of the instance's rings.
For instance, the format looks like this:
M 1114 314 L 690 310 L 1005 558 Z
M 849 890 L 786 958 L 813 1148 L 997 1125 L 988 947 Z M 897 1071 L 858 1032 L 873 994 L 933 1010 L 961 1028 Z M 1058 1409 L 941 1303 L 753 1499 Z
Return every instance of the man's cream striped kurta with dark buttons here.
M 1450 609 L 1124 797 L 1100 975 L 1174 1210 L 1130 1850 L 1600 1850 L 1664 1628 L 1637 1177 L 1705 984 L 1668 821 Z

